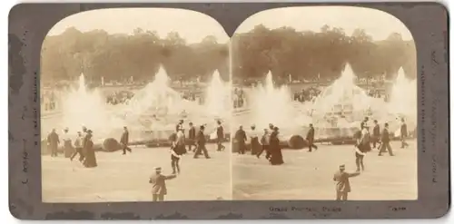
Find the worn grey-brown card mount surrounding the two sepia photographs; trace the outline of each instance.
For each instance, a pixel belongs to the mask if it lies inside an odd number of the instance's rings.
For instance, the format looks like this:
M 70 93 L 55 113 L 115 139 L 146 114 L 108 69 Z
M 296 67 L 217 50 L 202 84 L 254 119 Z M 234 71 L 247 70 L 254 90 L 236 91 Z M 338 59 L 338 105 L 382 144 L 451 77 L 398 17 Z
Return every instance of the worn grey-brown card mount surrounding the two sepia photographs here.
M 247 17 L 288 6 L 350 5 L 399 18 L 418 57 L 418 200 L 168 201 L 43 203 L 39 59 L 50 28 L 67 15 L 112 7 L 169 7 L 216 19 L 232 36 Z M 439 218 L 450 207 L 449 17 L 438 3 L 20 4 L 9 15 L 9 207 L 17 219 L 384 219 Z M 291 208 L 301 211 L 292 211 Z M 276 211 L 273 208 L 287 209 Z

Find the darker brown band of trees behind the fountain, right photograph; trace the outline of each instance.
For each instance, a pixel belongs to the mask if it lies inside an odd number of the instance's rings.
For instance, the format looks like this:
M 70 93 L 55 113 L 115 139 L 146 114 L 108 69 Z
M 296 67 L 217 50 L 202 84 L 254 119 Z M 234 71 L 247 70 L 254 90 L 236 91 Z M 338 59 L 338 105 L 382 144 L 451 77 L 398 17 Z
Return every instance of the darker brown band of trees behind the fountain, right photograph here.
M 290 27 L 270 30 L 257 25 L 249 33 L 232 38 L 233 77 L 274 77 L 313 80 L 336 78 L 346 63 L 360 78 L 393 78 L 402 67 L 409 78 L 416 76 L 416 47 L 392 33 L 386 40 L 373 41 L 364 30 L 351 36 L 325 25 L 318 33 L 297 32 Z

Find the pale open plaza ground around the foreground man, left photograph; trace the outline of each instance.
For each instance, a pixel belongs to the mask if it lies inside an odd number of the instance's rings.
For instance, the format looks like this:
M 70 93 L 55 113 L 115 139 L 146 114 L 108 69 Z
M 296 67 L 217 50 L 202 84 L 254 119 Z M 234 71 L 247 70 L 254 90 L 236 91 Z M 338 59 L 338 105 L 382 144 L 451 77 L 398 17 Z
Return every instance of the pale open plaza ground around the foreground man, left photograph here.
M 225 144 L 227 146 L 227 144 Z M 192 152 L 180 161 L 182 173 L 167 180 L 165 200 L 230 200 L 231 154 L 207 149 L 212 159 L 192 159 Z M 133 153 L 97 152 L 98 167 L 84 168 L 79 161 L 63 156 L 43 156 L 44 202 L 151 201 L 148 183 L 153 167 L 161 166 L 163 174 L 172 172 L 168 148 L 135 147 Z

